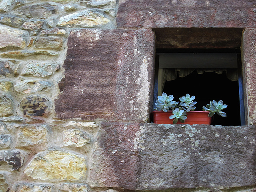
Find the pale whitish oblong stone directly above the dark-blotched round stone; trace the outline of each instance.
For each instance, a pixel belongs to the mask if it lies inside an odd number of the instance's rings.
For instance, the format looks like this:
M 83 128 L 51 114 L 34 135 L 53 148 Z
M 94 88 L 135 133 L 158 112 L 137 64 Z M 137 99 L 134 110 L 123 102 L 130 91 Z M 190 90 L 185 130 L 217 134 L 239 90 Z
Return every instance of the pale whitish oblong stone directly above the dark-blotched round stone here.
M 18 80 L 14 85 L 14 90 L 21 94 L 31 94 L 38 92 L 48 92 L 53 86 L 52 82 L 39 80 Z

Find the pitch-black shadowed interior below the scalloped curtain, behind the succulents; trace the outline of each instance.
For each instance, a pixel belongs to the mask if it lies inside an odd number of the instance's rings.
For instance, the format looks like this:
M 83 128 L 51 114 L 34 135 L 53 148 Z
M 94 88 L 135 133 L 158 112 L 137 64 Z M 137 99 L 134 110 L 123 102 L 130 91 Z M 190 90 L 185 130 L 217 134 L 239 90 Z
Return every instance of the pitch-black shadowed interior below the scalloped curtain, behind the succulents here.
M 180 53 L 180 52 L 235 52 L 238 56 L 238 71 L 240 65 L 240 50 L 239 49 L 216 49 L 216 50 L 157 50 L 157 53 Z M 156 53 L 156 54 L 157 54 Z M 156 61 L 157 63 L 157 61 Z M 240 72 L 238 72 L 241 75 Z M 240 78 L 242 79 L 242 78 Z M 241 82 L 240 82 L 241 83 Z M 241 92 L 242 89 L 240 89 Z M 240 120 L 240 98 L 241 93 L 239 92 L 239 81 L 231 81 L 226 77 L 225 72 L 217 74 L 215 72 L 204 72 L 198 74 L 196 71 L 192 72 L 186 77 L 177 77 L 175 80 L 166 81 L 164 90 L 167 95 L 172 94 L 174 100 L 179 101 L 179 97 L 185 96 L 187 93 L 190 96 L 196 96 L 195 101 L 196 110 L 201 111 L 202 106 L 210 104 L 210 101 L 223 100 L 224 104 L 228 105 L 228 108 L 224 109 L 227 117 L 221 117 L 217 114 L 214 115 L 212 125 L 222 126 L 238 126 L 244 124 Z M 156 92 L 155 92 L 156 93 Z M 243 106 L 242 106 L 243 108 Z M 242 111 L 244 109 L 241 109 Z M 243 112 L 242 112 L 243 115 Z M 243 121 L 243 120 L 242 120 Z

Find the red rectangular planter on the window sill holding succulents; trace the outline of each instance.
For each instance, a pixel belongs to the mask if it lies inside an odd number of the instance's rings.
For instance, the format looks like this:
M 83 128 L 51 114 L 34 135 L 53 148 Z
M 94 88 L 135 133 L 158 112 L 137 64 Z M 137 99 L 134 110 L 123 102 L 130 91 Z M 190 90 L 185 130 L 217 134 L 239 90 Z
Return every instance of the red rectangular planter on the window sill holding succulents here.
M 178 120 L 177 124 L 211 124 L 212 118 L 208 117 L 208 111 L 190 111 L 187 112 L 187 119 L 184 123 L 181 123 Z M 153 111 L 152 113 L 153 123 L 157 124 L 173 124 L 173 119 L 169 119 L 172 115 L 172 111 L 163 112 L 163 111 Z

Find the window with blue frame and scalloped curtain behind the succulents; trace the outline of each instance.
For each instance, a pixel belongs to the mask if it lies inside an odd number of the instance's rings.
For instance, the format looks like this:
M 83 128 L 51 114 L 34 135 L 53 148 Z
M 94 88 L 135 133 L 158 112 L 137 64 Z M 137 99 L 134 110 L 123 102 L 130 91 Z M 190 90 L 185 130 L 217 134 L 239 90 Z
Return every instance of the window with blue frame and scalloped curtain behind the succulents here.
M 217 102 L 223 100 L 224 104 L 228 105 L 228 108 L 224 110 L 227 117 L 214 115 L 212 125 L 238 126 L 245 124 L 239 49 L 168 50 L 164 52 L 165 57 L 167 55 L 167 62 L 161 58 L 162 53 L 163 50 L 157 50 L 156 53 L 155 87 L 158 89 L 155 88 L 154 91 L 154 103 L 157 95 L 162 92 L 168 95 L 172 94 L 176 101 L 187 93 L 190 96 L 196 96 L 195 100 L 198 102 L 196 110 L 202 110 L 202 106 L 206 106 L 212 100 Z M 171 54 L 168 55 L 168 53 Z M 195 55 L 194 58 L 193 55 Z M 182 59 L 179 60 L 180 56 Z M 172 62 L 168 64 L 168 60 L 172 60 Z M 163 61 L 164 64 L 161 63 Z M 161 87 L 159 84 L 163 78 L 161 74 L 163 67 L 169 71 L 169 77 L 164 80 Z

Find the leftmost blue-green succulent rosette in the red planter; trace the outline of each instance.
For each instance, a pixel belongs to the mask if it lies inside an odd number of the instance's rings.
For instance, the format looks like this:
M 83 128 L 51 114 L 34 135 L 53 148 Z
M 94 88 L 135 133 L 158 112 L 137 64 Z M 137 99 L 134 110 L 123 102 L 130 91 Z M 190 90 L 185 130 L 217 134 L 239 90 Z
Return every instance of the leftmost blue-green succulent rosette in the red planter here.
M 158 100 L 156 100 L 156 110 L 158 111 L 163 110 L 164 112 L 167 112 L 170 108 L 175 108 L 179 103 L 172 101 L 174 97 L 172 95 L 167 96 L 166 93 L 163 93 L 162 96 L 158 96 L 157 98 Z

